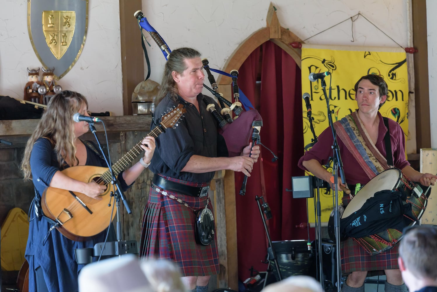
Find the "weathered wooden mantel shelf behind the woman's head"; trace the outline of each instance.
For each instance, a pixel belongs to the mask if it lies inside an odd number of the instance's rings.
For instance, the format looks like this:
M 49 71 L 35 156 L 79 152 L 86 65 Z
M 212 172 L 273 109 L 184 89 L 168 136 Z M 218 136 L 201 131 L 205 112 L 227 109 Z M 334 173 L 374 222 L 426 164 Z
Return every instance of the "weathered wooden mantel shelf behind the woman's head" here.
M 122 115 L 101 117 L 107 132 L 149 131 L 152 115 Z M 33 133 L 39 119 L 0 121 L 0 138 L 7 136 L 29 136 Z M 103 125 L 95 123 L 97 132 L 103 132 Z

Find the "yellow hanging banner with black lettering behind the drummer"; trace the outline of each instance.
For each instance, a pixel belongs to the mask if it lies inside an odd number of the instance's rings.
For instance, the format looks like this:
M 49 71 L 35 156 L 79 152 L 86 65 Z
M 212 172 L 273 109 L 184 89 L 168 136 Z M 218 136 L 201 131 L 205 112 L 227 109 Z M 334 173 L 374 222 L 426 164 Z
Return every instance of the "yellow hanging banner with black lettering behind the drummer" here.
M 326 99 L 322 91 L 321 80 L 311 82 L 310 73 L 329 72 L 325 77 L 326 91 L 331 98 L 329 110 L 333 111 L 332 119 L 338 119 L 355 111 L 354 85 L 361 76 L 378 74 L 384 76 L 388 85 L 388 96 L 379 112 L 384 117 L 398 122 L 406 138 L 408 135 L 408 76 L 406 52 L 402 48 L 363 48 L 363 47 L 329 47 L 303 45 L 302 47 L 302 93 L 311 96 L 312 124 L 316 136 L 319 136 L 329 126 Z M 303 133 L 305 151 L 313 145 L 313 135 L 310 130 L 305 102 L 302 101 Z M 329 147 L 329 146 L 327 146 Z M 332 172 L 332 163 L 327 168 Z M 306 172 L 309 175 L 309 172 Z M 339 203 L 343 193 L 339 193 Z M 333 191 L 320 190 L 322 222 L 328 222 L 329 214 L 333 210 Z M 309 220 L 315 222 L 314 200 L 308 199 Z

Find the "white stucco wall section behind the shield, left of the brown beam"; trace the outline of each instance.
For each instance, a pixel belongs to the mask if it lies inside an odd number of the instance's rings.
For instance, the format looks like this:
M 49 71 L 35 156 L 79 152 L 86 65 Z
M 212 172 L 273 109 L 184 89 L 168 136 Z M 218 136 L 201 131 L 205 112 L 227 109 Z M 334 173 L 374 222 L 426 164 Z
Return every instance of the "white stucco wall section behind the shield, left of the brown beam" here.
M 23 99 L 27 67 L 42 66 L 29 39 L 27 1 L 2 0 L 1 7 L 0 95 Z M 62 89 L 84 94 L 93 112 L 123 114 L 119 10 L 118 1 L 89 1 L 82 54 L 69 73 L 57 81 Z

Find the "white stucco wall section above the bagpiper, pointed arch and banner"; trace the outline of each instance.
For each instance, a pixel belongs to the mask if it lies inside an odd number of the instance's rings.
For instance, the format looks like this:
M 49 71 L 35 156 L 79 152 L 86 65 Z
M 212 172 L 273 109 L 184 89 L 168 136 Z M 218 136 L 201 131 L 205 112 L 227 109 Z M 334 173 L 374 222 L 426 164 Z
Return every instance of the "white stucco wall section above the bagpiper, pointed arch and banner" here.
M 272 1 L 281 26 L 304 40 L 361 12 L 402 46 L 407 43 L 406 0 Z M 163 1 L 143 0 L 142 10 L 170 49 L 198 49 L 209 65 L 220 68 L 254 31 L 266 26 L 269 0 Z M 356 18 L 356 17 L 355 17 Z M 354 19 L 355 19 L 354 18 Z M 305 41 L 309 44 L 397 46 L 363 17 L 350 20 Z M 151 79 L 160 82 L 165 59 L 152 38 L 148 47 Z M 147 68 L 147 66 L 145 66 Z

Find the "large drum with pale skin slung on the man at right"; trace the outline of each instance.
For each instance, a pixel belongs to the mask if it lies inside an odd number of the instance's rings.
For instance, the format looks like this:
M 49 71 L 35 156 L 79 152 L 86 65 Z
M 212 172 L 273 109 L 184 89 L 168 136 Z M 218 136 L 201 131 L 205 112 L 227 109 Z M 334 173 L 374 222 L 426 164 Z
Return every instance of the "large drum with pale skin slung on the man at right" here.
M 402 200 L 402 203 L 404 205 L 411 204 L 411 214 L 413 215 L 412 218 L 406 214 L 403 215 L 408 219 L 407 222 L 409 222 L 409 224 L 407 226 L 414 225 L 418 222 L 427 206 L 427 195 L 423 193 L 419 185 L 413 184 L 398 168 L 385 170 L 364 185 L 354 198 L 352 198 L 346 209 L 344 209 L 341 219 L 345 219 L 355 212 L 358 212 L 369 198 L 372 198 L 375 193 L 384 190 L 406 193 L 406 199 Z M 369 254 L 375 255 L 394 247 L 399 243 L 401 237 L 402 229 L 388 228 L 376 234 L 354 238 L 354 240 Z

